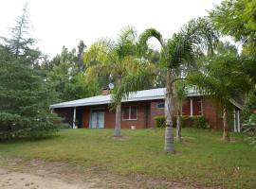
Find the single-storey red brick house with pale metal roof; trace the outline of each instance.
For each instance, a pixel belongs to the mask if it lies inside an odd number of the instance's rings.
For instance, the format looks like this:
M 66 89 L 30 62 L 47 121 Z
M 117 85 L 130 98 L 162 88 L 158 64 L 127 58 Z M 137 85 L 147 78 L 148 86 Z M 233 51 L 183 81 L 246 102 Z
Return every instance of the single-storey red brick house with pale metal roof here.
M 121 128 L 147 129 L 155 127 L 155 116 L 164 115 L 165 88 L 151 89 L 131 93 L 122 100 Z M 230 100 L 233 114 L 233 130 L 240 131 L 242 106 Z M 72 128 L 115 127 L 115 112 L 110 111 L 111 94 L 103 91 L 101 95 L 54 104 L 50 109 L 64 117 Z M 188 116 L 203 115 L 212 129 L 222 129 L 222 118 L 209 97 L 189 90 L 184 100 L 182 114 Z

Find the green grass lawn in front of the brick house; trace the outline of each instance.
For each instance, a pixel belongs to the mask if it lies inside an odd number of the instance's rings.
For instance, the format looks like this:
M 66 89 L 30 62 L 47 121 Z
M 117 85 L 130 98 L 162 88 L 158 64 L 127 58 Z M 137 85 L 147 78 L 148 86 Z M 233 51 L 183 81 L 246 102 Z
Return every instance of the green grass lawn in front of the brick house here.
M 177 153 L 163 153 L 164 129 L 122 129 L 123 139 L 113 129 L 65 129 L 51 139 L 0 145 L 2 157 L 21 157 L 79 163 L 121 175 L 146 175 L 225 188 L 256 188 L 256 150 L 246 136 L 183 129 L 184 142 Z

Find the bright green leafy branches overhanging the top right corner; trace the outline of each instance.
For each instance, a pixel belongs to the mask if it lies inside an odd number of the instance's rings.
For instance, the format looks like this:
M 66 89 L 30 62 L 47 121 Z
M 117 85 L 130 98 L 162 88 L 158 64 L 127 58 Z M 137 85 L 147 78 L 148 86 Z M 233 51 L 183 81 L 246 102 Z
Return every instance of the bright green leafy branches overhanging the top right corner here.
M 253 0 L 224 0 L 210 11 L 210 19 L 223 34 L 256 47 L 255 11 L 256 3 Z

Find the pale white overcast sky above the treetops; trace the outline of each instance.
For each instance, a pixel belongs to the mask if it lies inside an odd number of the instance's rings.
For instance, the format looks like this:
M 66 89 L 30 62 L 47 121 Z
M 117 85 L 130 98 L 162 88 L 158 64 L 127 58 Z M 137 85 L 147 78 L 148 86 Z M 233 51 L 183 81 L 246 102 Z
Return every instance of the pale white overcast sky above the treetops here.
M 115 38 L 124 26 L 135 26 L 138 33 L 155 27 L 168 38 L 221 0 L 0 0 L 0 36 L 7 36 L 26 2 L 30 34 L 52 57 L 63 45 L 71 49 L 80 40 L 88 46 L 102 37 Z

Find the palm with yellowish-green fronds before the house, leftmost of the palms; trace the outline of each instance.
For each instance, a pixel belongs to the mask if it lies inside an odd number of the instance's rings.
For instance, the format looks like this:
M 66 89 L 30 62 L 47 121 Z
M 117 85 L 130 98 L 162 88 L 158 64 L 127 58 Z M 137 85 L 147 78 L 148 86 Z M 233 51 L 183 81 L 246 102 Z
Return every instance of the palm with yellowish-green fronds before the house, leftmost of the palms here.
M 112 100 L 116 108 L 115 136 L 117 137 L 121 136 L 121 100 L 128 92 L 128 87 L 124 87 L 125 84 L 121 89 L 120 86 L 124 82 L 129 83 L 131 77 L 136 78 L 135 76 L 139 76 L 139 73 L 143 76 L 145 70 L 152 70 L 148 61 L 137 58 L 136 39 L 136 30 L 128 26 L 120 32 L 116 42 L 101 40 L 93 43 L 83 57 L 84 62 L 89 66 L 86 70 L 87 76 L 105 76 L 107 79 L 111 77 L 115 81 L 116 87 L 113 90 Z M 129 86 L 129 90 L 133 89 Z

